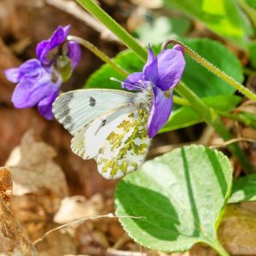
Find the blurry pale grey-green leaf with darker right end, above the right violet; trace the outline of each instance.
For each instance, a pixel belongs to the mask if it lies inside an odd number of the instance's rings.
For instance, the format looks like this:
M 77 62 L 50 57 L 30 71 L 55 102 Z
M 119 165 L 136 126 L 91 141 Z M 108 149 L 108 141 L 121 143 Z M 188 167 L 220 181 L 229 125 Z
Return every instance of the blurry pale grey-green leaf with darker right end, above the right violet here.
M 135 33 L 144 44 L 161 44 L 169 38 L 184 36 L 189 32 L 190 26 L 190 20 L 185 17 L 161 16 L 139 26 Z

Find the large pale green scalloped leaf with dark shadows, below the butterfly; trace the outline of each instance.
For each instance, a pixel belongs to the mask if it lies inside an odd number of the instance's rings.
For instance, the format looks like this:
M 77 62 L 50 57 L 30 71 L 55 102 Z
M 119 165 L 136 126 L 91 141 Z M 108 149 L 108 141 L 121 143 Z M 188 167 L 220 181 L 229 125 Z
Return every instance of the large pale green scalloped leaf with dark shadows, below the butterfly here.
M 144 217 L 119 221 L 145 247 L 178 252 L 205 242 L 217 249 L 231 183 L 232 168 L 224 154 L 195 145 L 177 148 L 119 182 L 116 214 Z

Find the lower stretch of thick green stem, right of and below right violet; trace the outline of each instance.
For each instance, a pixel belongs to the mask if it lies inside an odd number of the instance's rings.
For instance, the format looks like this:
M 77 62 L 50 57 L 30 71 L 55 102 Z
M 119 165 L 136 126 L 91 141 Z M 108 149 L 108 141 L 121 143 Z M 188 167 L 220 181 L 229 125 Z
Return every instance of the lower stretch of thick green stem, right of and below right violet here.
M 186 99 L 189 99 L 191 108 L 193 108 L 197 113 L 201 114 L 201 117 L 217 131 L 218 135 L 224 139 L 224 141 L 229 141 L 233 137 L 230 132 L 224 126 L 224 123 L 218 117 L 212 108 L 207 107 L 207 105 L 198 97 L 194 91 L 190 90 L 186 84 L 180 82 L 177 87 L 177 92 L 179 95 Z M 253 166 L 251 166 L 250 161 L 247 156 L 242 152 L 241 148 L 237 143 L 228 145 L 230 152 L 236 155 L 237 159 L 240 161 L 241 166 L 243 166 L 245 172 L 253 172 Z

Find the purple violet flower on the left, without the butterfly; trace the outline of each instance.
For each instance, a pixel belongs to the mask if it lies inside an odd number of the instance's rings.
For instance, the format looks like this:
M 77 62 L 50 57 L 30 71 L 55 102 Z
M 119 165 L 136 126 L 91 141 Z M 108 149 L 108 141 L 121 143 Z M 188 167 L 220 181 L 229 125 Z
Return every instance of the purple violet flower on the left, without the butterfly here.
M 36 49 L 38 59 L 28 60 L 20 67 L 4 71 L 10 82 L 18 83 L 12 96 L 15 108 L 38 106 L 38 112 L 45 119 L 53 119 L 52 103 L 58 96 L 63 81 L 58 58 L 64 57 L 65 72 L 70 66 L 71 74 L 81 57 L 78 43 L 67 42 L 67 49 L 62 47 L 67 40 L 69 29 L 70 25 L 59 26 L 48 40 L 39 43 Z

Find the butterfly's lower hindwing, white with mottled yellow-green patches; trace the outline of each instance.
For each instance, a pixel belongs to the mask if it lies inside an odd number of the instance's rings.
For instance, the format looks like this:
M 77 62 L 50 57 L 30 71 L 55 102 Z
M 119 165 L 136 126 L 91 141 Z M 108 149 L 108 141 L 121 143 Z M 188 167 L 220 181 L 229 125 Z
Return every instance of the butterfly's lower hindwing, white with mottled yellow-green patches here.
M 138 109 L 110 133 L 96 157 L 103 177 L 122 177 L 143 163 L 150 144 L 147 122 L 148 113 Z

